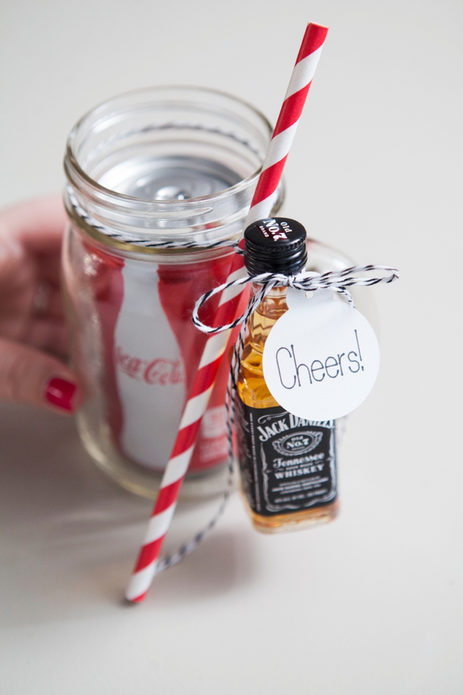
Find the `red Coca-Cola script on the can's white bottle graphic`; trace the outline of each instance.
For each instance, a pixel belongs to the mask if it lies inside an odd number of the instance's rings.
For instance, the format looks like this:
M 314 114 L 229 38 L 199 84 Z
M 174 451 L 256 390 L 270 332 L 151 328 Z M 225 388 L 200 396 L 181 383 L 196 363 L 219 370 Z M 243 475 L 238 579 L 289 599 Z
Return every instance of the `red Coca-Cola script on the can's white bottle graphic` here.
M 128 355 L 121 348 L 114 350 L 114 362 L 116 368 L 124 374 L 139 381 L 145 381 L 149 385 L 160 384 L 168 386 L 184 383 L 184 369 L 181 359 L 167 359 L 166 357 L 156 357 L 156 359 L 140 359 L 133 355 Z

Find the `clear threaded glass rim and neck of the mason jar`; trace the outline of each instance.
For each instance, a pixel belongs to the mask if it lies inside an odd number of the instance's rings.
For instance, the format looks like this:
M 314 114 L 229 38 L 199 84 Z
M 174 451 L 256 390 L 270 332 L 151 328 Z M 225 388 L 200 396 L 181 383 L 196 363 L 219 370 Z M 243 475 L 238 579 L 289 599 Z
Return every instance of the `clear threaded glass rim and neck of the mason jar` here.
M 272 132 L 267 117 L 250 102 L 215 88 L 159 85 L 116 95 L 83 114 L 67 138 L 64 197 L 69 216 L 123 243 L 207 247 L 237 239 Z M 132 152 L 132 159 L 123 159 L 125 152 Z M 124 161 L 146 157 L 149 163 L 150 153 L 152 161 L 192 157 L 206 166 L 210 162 L 239 180 L 206 195 L 178 199 L 138 197 L 98 180 L 98 170 L 102 178 L 111 176 Z M 228 183 L 226 177 L 223 183 Z M 283 190 L 281 183 L 272 212 L 281 206 Z

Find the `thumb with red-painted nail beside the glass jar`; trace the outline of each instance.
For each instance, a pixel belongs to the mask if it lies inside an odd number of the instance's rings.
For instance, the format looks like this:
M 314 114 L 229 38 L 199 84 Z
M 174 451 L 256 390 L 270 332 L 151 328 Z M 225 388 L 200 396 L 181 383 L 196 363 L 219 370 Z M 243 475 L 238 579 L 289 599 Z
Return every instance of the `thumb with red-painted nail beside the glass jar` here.
M 0 399 L 73 413 L 82 390 L 74 372 L 59 359 L 0 338 Z

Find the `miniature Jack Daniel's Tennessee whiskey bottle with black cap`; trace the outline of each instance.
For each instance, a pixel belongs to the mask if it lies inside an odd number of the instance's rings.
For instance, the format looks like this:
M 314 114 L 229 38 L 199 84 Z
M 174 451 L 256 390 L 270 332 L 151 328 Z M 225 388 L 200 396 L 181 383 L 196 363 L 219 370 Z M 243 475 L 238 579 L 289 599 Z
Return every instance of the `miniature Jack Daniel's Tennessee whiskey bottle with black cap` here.
M 249 273 L 304 270 L 306 232 L 295 220 L 259 220 L 244 238 Z M 264 343 L 287 310 L 286 287 L 274 287 L 250 316 L 237 384 L 241 487 L 254 527 L 264 533 L 331 521 L 338 508 L 334 421 L 311 422 L 288 413 L 264 380 Z

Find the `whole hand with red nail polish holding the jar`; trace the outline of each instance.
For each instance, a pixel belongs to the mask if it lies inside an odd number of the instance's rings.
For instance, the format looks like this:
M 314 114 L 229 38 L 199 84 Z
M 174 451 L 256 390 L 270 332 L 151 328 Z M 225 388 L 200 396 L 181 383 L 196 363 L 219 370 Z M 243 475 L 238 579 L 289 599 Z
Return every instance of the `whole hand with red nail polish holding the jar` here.
M 67 356 L 59 196 L 0 212 L 0 398 L 72 413 L 81 402 Z M 60 359 L 61 358 L 61 359 Z

